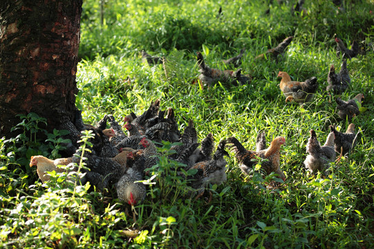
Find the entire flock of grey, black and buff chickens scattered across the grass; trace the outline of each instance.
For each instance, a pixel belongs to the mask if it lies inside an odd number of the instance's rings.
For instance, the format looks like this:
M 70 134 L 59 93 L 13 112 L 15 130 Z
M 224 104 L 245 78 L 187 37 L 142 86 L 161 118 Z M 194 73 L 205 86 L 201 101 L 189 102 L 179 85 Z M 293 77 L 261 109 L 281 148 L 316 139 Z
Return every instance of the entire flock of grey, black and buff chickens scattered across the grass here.
M 256 59 L 264 57 L 274 57 L 283 55 L 285 48 L 292 42 L 293 37 L 287 37 L 281 44 L 275 48 L 267 50 L 266 53 L 258 55 Z M 337 54 L 344 58 L 339 73 L 335 73 L 335 67 L 330 67 L 328 73 L 327 91 L 333 91 L 340 94 L 346 91 L 350 84 L 350 77 L 347 70 L 347 62 L 357 55 L 357 45 L 353 43 L 353 49 L 348 50 L 341 39 L 336 38 L 338 49 Z M 232 63 L 240 66 L 244 49 L 238 56 L 227 59 L 225 63 Z M 152 57 L 142 52 L 143 59 L 148 64 L 163 63 L 165 58 Z M 241 69 L 237 71 L 221 71 L 210 68 L 205 62 L 201 53 L 197 53 L 197 64 L 199 66 L 199 80 L 210 86 L 215 82 L 227 82 L 229 84 L 248 84 L 251 82 L 249 75 L 242 75 Z M 305 82 L 292 81 L 290 75 L 280 71 L 278 77 L 281 77 L 280 88 L 285 95 L 285 101 L 294 101 L 303 105 L 310 102 L 318 89 L 317 77 L 311 77 Z M 354 116 L 359 114 L 364 95 L 360 93 L 353 100 L 344 101 L 336 99 L 338 115 L 343 120 L 349 122 Z M 109 128 L 107 128 L 109 122 Z M 157 147 L 161 146 L 161 141 L 179 142 L 172 146 L 174 154 L 169 154 L 169 160 L 175 160 L 186 165 L 185 170 L 196 169 L 196 174 L 184 174 L 178 172 L 179 176 L 186 178 L 188 185 L 197 190 L 196 198 L 204 194 L 208 184 L 220 185 L 226 181 L 225 156 L 229 157 L 226 148 L 234 151 L 235 158 L 244 174 L 251 174 L 253 167 L 260 164 L 264 174 L 274 174 L 274 176 L 285 181 L 285 174 L 280 167 L 281 146 L 285 144 L 285 138 L 278 136 L 267 145 L 265 133 L 259 133 L 256 139 L 256 149 L 246 149 L 238 140 L 231 137 L 220 140 L 215 147 L 212 133 L 208 133 L 202 141 L 197 139 L 197 131 L 193 120 L 189 120 L 183 133 L 179 131 L 179 125 L 175 118 L 175 111 L 172 108 L 161 110 L 160 100 L 155 100 L 150 107 L 140 116 L 130 113 L 125 117 L 125 125 L 121 127 L 112 115 L 105 115 L 95 126 L 84 124 L 80 111 L 76 111 L 75 120 L 71 122 L 66 120 L 60 129 L 70 131 L 67 138 L 71 140 L 66 145 L 66 153 L 73 155 L 80 154 L 84 157 L 84 163 L 88 169 L 82 169 L 84 176 L 79 179 L 84 184 L 89 181 L 91 185 L 96 186 L 98 190 L 104 190 L 114 186 L 118 199 L 123 203 L 134 205 L 141 203 L 147 195 L 145 185 L 141 182 L 149 174 L 149 169 L 157 165 L 161 154 Z M 127 132 L 124 131 L 125 128 Z M 90 140 L 91 151 L 77 150 L 80 146 L 81 131 L 90 130 L 94 133 L 94 138 Z M 355 124 L 350 124 L 345 133 L 341 133 L 330 126 L 330 133 L 324 145 L 321 146 L 314 130 L 310 131 L 310 138 L 306 145 L 308 156 L 304 164 L 310 172 L 315 174 L 317 171 L 323 172 L 328 163 L 336 160 L 336 153 L 340 156 L 346 155 L 355 146 L 357 134 L 355 133 Z M 338 158 L 339 159 L 339 158 Z M 49 180 L 47 172 L 64 172 L 66 168 L 77 170 L 77 163 L 80 162 L 79 156 L 68 158 L 59 158 L 50 160 L 44 156 L 33 156 L 30 159 L 30 167 L 37 167 L 39 178 L 44 181 Z M 69 167 L 57 167 L 57 165 L 68 165 Z M 211 199 L 211 196 L 210 196 Z

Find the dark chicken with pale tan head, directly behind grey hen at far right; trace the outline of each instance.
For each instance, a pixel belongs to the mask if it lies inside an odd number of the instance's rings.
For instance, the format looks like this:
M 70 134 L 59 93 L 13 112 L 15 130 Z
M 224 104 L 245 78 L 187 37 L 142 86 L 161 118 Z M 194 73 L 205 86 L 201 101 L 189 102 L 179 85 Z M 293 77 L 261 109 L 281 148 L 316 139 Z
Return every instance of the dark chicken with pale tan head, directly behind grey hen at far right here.
M 355 124 L 349 124 L 345 133 L 341 133 L 330 125 L 331 131 L 335 134 L 335 151 L 340 153 L 338 159 L 350 153 L 357 143 L 357 135 L 355 133 Z

